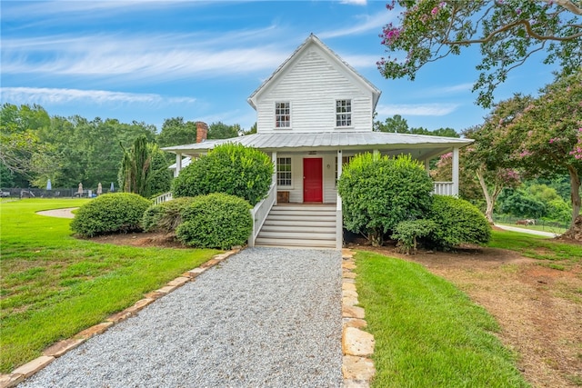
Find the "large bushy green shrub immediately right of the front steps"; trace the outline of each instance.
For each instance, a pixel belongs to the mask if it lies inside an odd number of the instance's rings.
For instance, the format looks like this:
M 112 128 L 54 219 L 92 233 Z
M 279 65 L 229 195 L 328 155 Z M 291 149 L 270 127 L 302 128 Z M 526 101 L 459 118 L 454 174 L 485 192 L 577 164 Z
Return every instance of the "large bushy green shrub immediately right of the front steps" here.
M 410 155 L 390 158 L 367 153 L 346 165 L 337 191 L 346 229 L 366 234 L 373 245 L 381 245 L 383 235 L 398 223 L 428 213 L 433 181 Z

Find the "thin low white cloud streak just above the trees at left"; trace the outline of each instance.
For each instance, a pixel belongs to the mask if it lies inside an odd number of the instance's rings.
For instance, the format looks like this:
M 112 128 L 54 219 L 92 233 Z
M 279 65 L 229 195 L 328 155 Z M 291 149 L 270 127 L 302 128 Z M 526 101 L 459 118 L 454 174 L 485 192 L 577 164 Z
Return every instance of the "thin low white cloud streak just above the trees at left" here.
M 11 104 L 194 104 L 192 97 L 165 97 L 156 94 L 110 92 L 106 90 L 58 89 L 46 87 L 3 87 L 2 100 Z

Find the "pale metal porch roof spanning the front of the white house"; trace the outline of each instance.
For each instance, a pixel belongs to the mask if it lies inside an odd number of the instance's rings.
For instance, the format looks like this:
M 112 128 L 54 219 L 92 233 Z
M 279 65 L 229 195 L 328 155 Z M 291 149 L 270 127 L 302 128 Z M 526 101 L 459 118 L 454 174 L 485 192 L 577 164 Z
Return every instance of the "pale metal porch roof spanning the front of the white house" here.
M 384 132 L 324 132 L 248 134 L 230 139 L 208 140 L 204 143 L 176 145 L 162 148 L 173 154 L 206 154 L 218 144 L 238 143 L 265 152 L 306 151 L 372 151 L 384 154 L 412 154 L 419 159 L 445 154 L 454 147 L 473 143 L 471 139 L 428 136 L 423 134 L 390 134 Z

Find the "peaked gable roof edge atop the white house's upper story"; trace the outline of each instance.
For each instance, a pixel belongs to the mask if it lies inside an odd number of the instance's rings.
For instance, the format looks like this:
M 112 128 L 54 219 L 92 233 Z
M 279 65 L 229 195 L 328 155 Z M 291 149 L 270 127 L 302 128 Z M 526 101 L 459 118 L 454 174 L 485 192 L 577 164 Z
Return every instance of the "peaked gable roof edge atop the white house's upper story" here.
M 344 67 L 346 69 L 346 71 L 348 73 L 350 73 L 357 81 L 359 81 L 362 86 L 364 86 L 366 89 L 368 89 L 370 92 L 372 92 L 372 95 L 373 95 L 372 108 L 376 109 L 376 104 L 377 104 L 378 99 L 380 98 L 380 95 L 382 94 L 382 92 L 378 88 L 376 88 L 375 85 L 373 85 L 371 82 L 369 82 L 363 75 L 360 75 L 359 73 L 357 73 L 356 69 L 354 69 L 352 66 L 347 64 L 346 61 L 344 61 L 339 55 L 336 55 L 336 53 L 334 53 L 333 50 L 331 50 L 329 47 L 324 45 L 324 43 L 322 41 L 320 41 L 316 35 L 313 35 L 313 34 L 309 35 L 307 37 L 307 39 L 305 40 L 305 42 L 303 42 L 303 44 L 299 45 L 299 47 L 296 48 L 296 50 L 293 52 L 293 54 L 291 56 L 289 56 L 283 64 L 281 64 L 279 67 L 277 67 L 276 71 L 272 75 L 270 75 L 265 80 L 265 82 L 263 82 L 263 84 L 261 84 L 259 87 L 256 88 L 255 92 L 253 92 L 246 99 L 248 104 L 250 104 L 254 109 L 256 109 L 256 99 L 257 99 L 258 95 L 261 95 L 261 93 L 264 90 L 266 90 L 266 88 L 269 85 L 275 83 L 277 81 L 277 79 L 279 79 L 283 74 L 285 74 L 286 70 L 293 65 L 294 59 L 303 55 L 303 53 L 311 45 L 316 45 L 317 47 L 319 47 L 326 55 L 327 60 L 334 62 L 337 65 L 340 65 L 341 67 Z

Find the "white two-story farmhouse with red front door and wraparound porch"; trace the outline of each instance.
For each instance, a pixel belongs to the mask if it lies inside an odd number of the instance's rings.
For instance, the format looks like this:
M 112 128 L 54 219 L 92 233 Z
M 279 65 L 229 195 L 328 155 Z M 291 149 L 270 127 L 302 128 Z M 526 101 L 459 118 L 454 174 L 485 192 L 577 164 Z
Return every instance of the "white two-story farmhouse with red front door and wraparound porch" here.
M 175 174 L 185 156 L 216 144 L 258 148 L 276 165 L 271 191 L 254 210 L 249 244 L 342 246 L 341 199 L 336 179 L 355 154 L 411 154 L 430 159 L 453 153 L 453 182 L 435 183 L 437 194 L 458 194 L 458 149 L 472 141 L 418 134 L 373 132 L 381 92 L 310 35 L 248 98 L 256 109 L 256 134 L 176 145 Z M 338 163 L 339 162 L 339 163 Z

